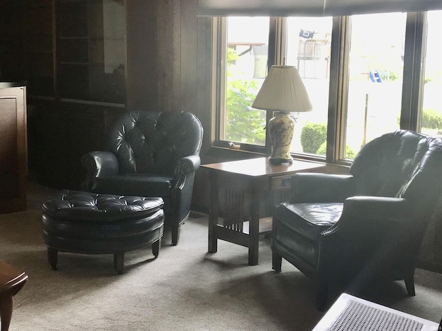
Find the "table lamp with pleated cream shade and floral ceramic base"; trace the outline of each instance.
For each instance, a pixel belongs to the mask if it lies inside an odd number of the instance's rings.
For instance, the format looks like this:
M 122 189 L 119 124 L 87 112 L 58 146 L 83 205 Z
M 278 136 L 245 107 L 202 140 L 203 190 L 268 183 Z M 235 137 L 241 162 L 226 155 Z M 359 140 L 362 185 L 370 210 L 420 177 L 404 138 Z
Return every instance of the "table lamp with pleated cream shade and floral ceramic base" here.
M 269 161 L 274 164 L 291 163 L 290 145 L 295 121 L 289 115 L 291 112 L 312 110 L 298 69 L 293 66 L 272 66 L 252 107 L 274 113 L 267 126 L 271 141 Z

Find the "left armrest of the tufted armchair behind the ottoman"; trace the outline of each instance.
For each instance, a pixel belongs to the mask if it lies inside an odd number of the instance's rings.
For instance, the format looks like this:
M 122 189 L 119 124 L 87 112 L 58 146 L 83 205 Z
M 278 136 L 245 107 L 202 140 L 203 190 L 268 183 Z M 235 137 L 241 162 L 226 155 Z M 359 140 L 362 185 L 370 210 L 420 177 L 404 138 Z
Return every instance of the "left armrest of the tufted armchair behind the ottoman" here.
M 88 152 L 81 157 L 81 165 L 86 169 L 86 179 L 81 184 L 82 189 L 87 189 L 96 177 L 110 176 L 119 172 L 117 157 L 112 152 Z

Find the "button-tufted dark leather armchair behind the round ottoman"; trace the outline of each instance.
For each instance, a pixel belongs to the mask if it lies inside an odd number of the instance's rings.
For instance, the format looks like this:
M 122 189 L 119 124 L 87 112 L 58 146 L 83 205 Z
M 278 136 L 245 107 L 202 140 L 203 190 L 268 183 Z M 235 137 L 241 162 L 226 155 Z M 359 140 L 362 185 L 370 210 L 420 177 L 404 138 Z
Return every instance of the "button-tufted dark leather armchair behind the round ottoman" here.
M 195 171 L 200 168 L 202 125 L 189 112 L 131 112 L 115 121 L 106 151 L 85 154 L 82 189 L 88 192 L 162 197 L 164 223 L 179 240 L 189 217 Z

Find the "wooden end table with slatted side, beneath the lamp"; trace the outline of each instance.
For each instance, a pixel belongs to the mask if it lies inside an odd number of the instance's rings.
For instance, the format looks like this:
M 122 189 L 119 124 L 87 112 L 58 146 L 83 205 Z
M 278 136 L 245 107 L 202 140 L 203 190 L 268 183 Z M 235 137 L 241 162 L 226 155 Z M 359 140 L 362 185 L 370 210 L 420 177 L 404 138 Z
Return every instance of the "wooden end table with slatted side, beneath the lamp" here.
M 294 160 L 273 165 L 261 157 L 201 167 L 209 170 L 211 179 L 209 252 L 217 251 L 218 239 L 229 241 L 249 248 L 249 265 L 257 265 L 259 234 L 263 232 L 260 214 L 275 205 L 274 201 L 268 202 L 268 198 L 276 192 L 289 192 L 291 176 L 296 172 L 320 172 L 325 164 Z M 262 203 L 266 199 L 267 203 Z

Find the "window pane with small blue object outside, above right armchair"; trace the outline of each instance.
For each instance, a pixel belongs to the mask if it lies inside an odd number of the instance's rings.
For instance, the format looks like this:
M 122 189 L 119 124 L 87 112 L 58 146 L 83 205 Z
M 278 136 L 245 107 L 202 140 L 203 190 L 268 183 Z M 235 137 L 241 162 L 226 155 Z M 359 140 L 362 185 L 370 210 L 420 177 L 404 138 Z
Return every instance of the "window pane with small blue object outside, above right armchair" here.
M 400 126 L 406 13 L 352 17 L 345 157 Z

